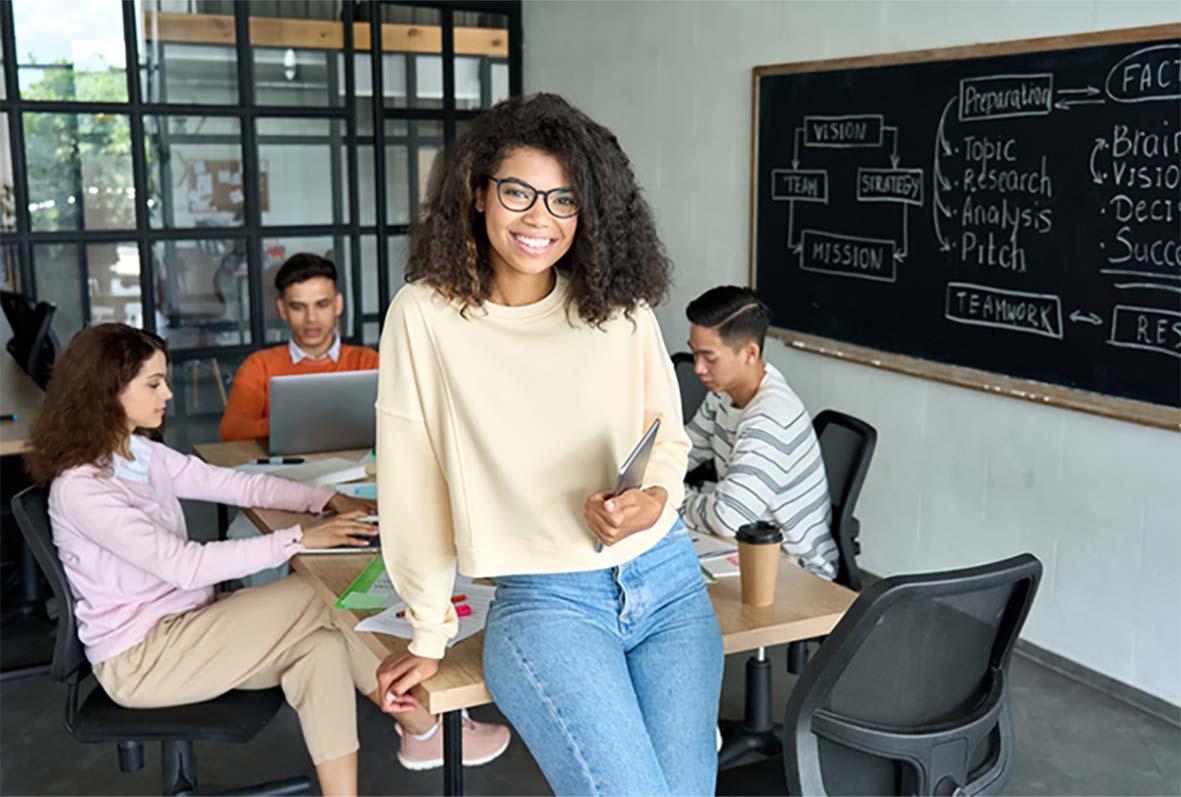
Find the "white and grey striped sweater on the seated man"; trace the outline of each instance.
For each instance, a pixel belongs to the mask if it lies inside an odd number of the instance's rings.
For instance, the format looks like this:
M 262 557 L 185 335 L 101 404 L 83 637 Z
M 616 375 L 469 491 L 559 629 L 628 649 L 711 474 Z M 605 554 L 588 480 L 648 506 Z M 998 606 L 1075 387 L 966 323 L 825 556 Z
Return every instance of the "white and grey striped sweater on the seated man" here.
M 693 442 L 690 470 L 710 459 L 718 470 L 717 485 L 685 489 L 686 525 L 732 537 L 740 525 L 770 521 L 801 567 L 826 579 L 836 575 L 820 442 L 803 401 L 775 366 L 766 366 L 758 392 L 742 409 L 726 393 L 706 394 L 685 431 Z

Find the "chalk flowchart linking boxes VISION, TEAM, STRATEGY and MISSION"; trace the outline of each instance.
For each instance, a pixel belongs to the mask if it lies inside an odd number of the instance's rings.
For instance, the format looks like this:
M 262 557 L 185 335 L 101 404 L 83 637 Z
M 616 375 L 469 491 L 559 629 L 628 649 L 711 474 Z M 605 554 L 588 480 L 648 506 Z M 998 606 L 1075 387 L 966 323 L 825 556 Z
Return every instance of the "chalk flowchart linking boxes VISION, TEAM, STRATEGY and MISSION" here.
M 792 132 L 791 168 L 771 170 L 771 200 L 788 204 L 788 249 L 798 256 L 805 272 L 894 282 L 898 267 L 909 254 L 909 207 L 922 207 L 924 170 L 899 165 L 895 125 L 881 113 L 804 116 Z M 888 138 L 888 141 L 887 141 Z M 859 203 L 892 203 L 901 207 L 895 239 L 874 239 L 833 230 L 802 228 L 796 237 L 796 203 L 829 203 L 827 169 L 801 169 L 801 148 L 808 150 L 867 149 L 888 152 L 881 165 L 857 166 L 855 190 Z

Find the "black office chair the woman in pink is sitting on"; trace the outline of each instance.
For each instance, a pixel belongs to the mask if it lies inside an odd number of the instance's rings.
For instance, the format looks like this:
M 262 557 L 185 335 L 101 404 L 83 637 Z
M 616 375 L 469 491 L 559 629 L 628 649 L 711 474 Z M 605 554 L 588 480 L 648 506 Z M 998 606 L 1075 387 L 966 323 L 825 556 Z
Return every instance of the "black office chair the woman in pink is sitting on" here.
M 12 509 L 58 603 L 58 631 L 50 674 L 66 685 L 66 730 L 78 742 L 116 743 L 119 769 L 124 772 L 143 769 L 144 742 L 159 742 L 163 749 L 161 793 L 195 792 L 197 762 L 193 743 L 249 742 L 282 706 L 282 691 L 278 687 L 239 690 L 187 706 L 124 708 L 111 700 L 100 685 L 96 685 L 79 706 L 78 686 L 90 673 L 90 665 L 78 640 L 73 594 L 53 544 L 48 495 L 40 488 L 31 486 L 12 499 Z M 311 780 L 298 777 L 244 786 L 235 793 L 306 795 L 309 791 Z

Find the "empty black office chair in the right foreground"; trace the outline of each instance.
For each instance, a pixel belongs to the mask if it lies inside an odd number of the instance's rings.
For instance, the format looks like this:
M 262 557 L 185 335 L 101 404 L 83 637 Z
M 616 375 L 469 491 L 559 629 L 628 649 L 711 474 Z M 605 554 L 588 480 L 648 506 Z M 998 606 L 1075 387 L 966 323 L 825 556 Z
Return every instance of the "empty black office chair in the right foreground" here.
M 1009 658 L 1040 577 L 1022 554 L 868 587 L 796 684 L 784 754 L 719 772 L 717 793 L 1000 793 Z

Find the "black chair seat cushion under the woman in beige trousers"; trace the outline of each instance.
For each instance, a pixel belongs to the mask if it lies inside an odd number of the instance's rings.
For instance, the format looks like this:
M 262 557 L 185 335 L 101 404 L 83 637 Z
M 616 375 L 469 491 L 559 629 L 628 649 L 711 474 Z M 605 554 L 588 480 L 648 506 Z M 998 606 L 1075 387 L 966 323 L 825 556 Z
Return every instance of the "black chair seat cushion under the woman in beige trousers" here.
M 78 711 L 79 742 L 185 739 L 249 742 L 283 705 L 282 690 L 234 690 L 204 703 L 170 708 L 124 708 L 102 686 Z

